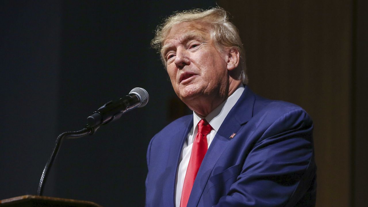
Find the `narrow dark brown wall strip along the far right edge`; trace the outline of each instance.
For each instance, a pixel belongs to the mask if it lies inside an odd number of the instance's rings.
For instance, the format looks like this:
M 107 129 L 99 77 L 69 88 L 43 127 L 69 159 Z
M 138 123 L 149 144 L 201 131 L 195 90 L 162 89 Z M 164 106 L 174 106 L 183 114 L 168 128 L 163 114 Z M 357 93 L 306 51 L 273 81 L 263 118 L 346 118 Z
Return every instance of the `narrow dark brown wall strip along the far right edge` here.
M 353 205 L 368 200 L 368 1 L 353 2 L 352 171 Z

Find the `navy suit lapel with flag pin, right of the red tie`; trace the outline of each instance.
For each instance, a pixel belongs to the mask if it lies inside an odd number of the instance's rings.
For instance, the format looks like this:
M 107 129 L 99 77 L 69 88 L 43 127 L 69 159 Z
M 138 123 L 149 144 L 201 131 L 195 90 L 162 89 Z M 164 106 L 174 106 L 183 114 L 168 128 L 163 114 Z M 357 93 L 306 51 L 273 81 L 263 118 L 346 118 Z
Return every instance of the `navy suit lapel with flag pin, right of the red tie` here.
M 252 118 L 254 102 L 254 93 L 245 86 L 243 94 L 224 119 L 202 161 L 188 200 L 188 207 L 198 206 L 213 167 L 229 144 L 230 136 L 237 133 L 241 126 Z

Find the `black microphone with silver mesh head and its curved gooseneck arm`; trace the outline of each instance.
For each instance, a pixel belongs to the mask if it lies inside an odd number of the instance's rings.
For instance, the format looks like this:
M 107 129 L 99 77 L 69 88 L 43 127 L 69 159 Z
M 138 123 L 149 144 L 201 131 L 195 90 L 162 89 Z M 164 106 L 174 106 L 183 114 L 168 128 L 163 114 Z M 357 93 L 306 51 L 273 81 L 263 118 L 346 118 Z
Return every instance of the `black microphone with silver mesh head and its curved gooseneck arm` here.
M 45 186 L 49 169 L 55 160 L 63 139 L 79 138 L 86 135 L 92 135 L 101 125 L 105 125 L 119 119 L 125 112 L 130 111 L 133 108 L 144 107 L 148 103 L 148 100 L 149 96 L 145 89 L 134 88 L 129 92 L 128 96 L 125 96 L 118 101 L 110 101 L 95 111 L 87 118 L 88 125 L 86 125 L 86 127 L 81 131 L 61 133 L 57 137 L 55 147 L 45 165 L 45 168 L 43 169 L 37 189 L 37 195 L 42 196 L 43 186 Z

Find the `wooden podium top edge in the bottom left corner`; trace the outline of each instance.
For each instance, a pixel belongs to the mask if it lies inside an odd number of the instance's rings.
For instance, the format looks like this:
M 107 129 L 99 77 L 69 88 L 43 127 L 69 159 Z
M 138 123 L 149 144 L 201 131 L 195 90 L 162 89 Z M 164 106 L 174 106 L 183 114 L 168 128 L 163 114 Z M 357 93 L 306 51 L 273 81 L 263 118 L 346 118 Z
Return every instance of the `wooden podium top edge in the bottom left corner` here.
M 102 207 L 91 201 L 25 195 L 0 200 L 0 207 Z

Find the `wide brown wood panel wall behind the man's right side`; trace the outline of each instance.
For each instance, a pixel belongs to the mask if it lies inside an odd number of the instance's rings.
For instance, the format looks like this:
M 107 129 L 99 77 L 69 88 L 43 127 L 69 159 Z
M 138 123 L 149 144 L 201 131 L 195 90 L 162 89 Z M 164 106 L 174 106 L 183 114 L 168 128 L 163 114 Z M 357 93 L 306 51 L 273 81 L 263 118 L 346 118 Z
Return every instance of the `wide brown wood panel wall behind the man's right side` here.
M 220 0 L 233 16 L 256 93 L 314 120 L 317 207 L 347 207 L 351 181 L 351 1 Z

